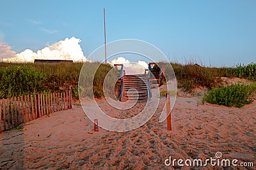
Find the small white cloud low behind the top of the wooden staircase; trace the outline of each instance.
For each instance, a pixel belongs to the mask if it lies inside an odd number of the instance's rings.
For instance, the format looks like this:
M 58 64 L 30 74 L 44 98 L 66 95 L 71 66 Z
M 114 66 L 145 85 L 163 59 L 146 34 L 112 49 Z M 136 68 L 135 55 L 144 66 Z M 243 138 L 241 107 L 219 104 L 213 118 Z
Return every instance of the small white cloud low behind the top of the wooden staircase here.
M 130 62 L 124 57 L 113 59 L 109 64 L 111 64 L 111 66 L 114 66 L 114 64 L 124 64 L 125 74 L 144 74 L 145 69 L 148 68 L 148 64 L 145 61 L 139 60 L 138 62 Z

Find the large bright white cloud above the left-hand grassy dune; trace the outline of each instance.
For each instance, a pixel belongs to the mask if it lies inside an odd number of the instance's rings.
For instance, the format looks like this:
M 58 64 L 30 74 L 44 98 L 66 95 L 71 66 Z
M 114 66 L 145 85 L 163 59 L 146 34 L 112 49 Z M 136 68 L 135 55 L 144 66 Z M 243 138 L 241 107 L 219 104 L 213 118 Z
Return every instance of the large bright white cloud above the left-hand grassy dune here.
M 81 40 L 78 38 L 66 38 L 63 41 L 46 46 L 36 53 L 26 49 L 17 53 L 15 57 L 8 57 L 3 60 L 6 62 L 33 62 L 35 59 L 86 61 L 83 50 L 79 45 L 80 42 Z

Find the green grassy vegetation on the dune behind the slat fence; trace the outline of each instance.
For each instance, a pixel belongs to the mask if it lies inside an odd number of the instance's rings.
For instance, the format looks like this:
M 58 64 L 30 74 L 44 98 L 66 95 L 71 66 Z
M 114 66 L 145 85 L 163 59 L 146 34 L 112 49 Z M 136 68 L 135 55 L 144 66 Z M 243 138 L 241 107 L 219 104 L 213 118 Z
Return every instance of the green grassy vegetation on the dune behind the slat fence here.
M 15 97 L 36 93 L 63 92 L 72 86 L 75 99 L 78 99 L 78 79 L 82 66 L 88 71 L 93 67 L 90 62 L 60 63 L 0 63 L 0 97 Z M 94 63 L 95 65 L 99 65 Z M 112 67 L 102 64 L 95 74 L 93 86 L 95 96 L 103 94 L 104 77 Z M 92 75 L 85 73 L 84 76 Z M 86 79 L 85 79 L 86 80 Z

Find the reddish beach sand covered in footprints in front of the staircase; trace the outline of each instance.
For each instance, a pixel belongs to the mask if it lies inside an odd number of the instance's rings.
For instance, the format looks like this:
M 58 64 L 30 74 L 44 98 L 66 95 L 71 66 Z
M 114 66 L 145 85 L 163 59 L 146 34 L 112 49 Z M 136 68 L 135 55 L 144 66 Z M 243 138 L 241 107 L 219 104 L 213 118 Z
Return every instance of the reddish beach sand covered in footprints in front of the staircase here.
M 170 156 L 206 160 L 216 152 L 222 153 L 221 159 L 253 162 L 254 167 L 247 169 L 255 169 L 256 101 L 243 108 L 201 101 L 202 96 L 179 93 L 172 110 L 172 131 L 166 130 L 166 121 L 159 123 L 165 99 L 160 99 L 156 114 L 145 125 L 129 132 L 101 128 L 93 132 L 81 106 L 53 113 L 28 122 L 22 130 L 0 134 L 0 169 L 189 169 L 165 166 L 164 160 Z M 134 116 L 136 109 L 127 114 Z

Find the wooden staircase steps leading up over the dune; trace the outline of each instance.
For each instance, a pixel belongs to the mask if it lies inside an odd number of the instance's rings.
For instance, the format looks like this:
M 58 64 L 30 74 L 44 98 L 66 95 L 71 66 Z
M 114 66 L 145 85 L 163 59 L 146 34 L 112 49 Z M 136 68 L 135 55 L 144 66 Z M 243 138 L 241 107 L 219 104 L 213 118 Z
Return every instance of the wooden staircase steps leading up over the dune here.
M 123 76 L 123 97 L 122 101 L 137 100 L 147 101 L 148 89 L 147 80 L 148 74 L 135 74 L 135 75 L 124 75 Z

